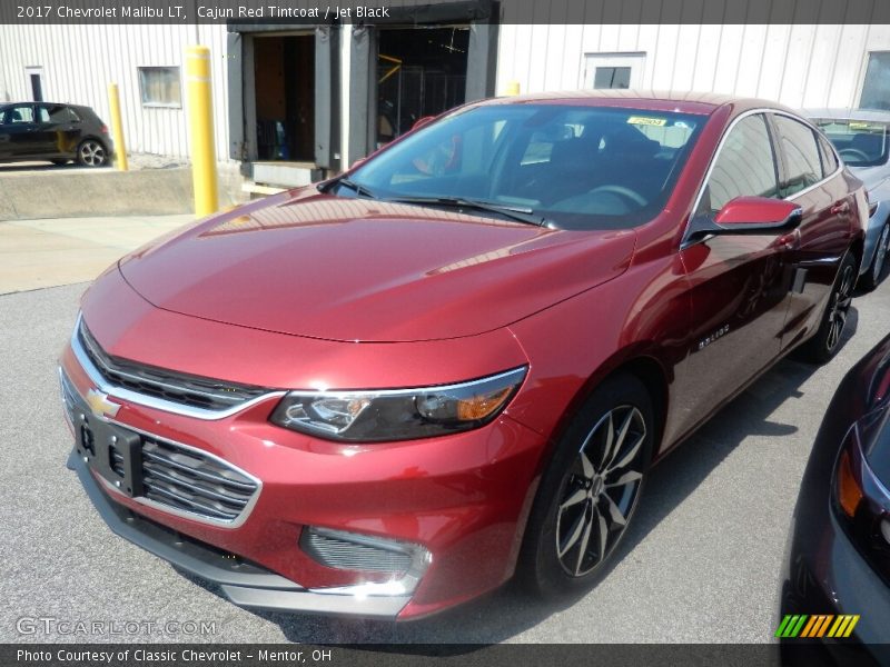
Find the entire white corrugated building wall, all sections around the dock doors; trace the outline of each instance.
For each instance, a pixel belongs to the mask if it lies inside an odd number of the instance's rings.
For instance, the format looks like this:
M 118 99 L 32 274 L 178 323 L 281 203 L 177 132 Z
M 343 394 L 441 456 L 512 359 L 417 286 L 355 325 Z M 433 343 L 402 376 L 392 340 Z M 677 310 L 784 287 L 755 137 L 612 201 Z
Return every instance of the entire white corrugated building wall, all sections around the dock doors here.
M 342 40 L 344 137 L 348 42 L 347 28 Z M 0 26 L 0 99 L 30 99 L 26 68 L 41 66 L 47 100 L 90 104 L 108 120 L 106 88 L 116 81 L 128 149 L 185 158 L 185 109 L 144 108 L 137 68 L 182 67 L 184 49 L 192 43 L 211 49 L 217 158 L 227 161 L 224 26 Z M 642 52 L 644 89 L 738 93 L 791 107 L 849 107 L 859 99 L 868 52 L 874 50 L 890 50 L 890 26 L 503 24 L 497 90 L 513 80 L 523 92 L 580 88 L 586 54 Z M 185 77 L 182 84 L 185 104 Z

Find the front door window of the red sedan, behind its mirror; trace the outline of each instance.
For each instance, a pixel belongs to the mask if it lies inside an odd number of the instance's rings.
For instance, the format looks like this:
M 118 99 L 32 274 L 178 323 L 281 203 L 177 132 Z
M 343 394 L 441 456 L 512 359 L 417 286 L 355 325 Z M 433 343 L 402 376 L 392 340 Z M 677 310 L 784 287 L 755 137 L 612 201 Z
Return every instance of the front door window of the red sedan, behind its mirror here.
M 762 113 L 743 118 L 730 131 L 695 215 L 715 213 L 736 197 L 778 197 L 775 156 Z

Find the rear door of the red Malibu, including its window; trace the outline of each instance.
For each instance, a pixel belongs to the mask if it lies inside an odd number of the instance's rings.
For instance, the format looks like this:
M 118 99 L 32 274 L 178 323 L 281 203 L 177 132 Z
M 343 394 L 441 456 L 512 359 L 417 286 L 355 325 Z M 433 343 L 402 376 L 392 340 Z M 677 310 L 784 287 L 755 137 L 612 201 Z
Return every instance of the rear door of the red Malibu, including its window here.
M 856 195 L 834 151 L 821 135 L 791 116 L 774 112 L 780 161 L 780 196 L 803 210 L 792 251 L 792 290 L 782 330 L 785 348 L 819 326 L 841 259 L 852 240 Z M 828 143 L 828 142 L 825 142 Z

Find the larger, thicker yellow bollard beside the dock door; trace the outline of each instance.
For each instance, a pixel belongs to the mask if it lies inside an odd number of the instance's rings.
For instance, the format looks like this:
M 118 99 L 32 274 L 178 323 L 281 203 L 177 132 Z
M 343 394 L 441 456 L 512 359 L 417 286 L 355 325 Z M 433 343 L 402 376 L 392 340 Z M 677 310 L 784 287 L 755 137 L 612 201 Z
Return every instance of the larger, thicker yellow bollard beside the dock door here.
M 214 145 L 214 107 L 210 89 L 210 49 L 186 49 L 188 121 L 191 135 L 191 180 L 195 215 L 209 216 L 219 206 Z

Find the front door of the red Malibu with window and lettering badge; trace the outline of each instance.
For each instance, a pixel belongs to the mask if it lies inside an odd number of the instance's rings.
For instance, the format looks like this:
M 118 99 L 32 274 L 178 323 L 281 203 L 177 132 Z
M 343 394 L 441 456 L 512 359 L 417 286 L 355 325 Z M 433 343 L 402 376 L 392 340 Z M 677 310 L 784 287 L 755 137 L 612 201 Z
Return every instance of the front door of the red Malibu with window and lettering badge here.
M 693 215 L 713 217 L 742 196 L 779 198 L 777 152 L 762 112 L 743 116 L 729 129 Z M 693 322 L 685 427 L 779 355 L 790 286 L 788 242 L 777 233 L 720 235 L 681 250 Z

